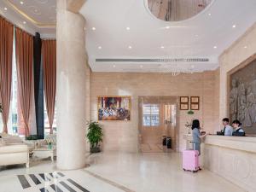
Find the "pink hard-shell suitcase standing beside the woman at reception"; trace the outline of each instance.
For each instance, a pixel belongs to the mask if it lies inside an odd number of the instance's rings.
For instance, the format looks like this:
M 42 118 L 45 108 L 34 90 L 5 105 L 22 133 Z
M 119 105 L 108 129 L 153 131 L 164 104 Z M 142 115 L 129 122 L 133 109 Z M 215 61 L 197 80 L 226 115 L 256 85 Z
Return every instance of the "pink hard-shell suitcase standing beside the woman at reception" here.
M 191 172 L 199 170 L 199 152 L 197 150 L 183 150 L 183 170 Z

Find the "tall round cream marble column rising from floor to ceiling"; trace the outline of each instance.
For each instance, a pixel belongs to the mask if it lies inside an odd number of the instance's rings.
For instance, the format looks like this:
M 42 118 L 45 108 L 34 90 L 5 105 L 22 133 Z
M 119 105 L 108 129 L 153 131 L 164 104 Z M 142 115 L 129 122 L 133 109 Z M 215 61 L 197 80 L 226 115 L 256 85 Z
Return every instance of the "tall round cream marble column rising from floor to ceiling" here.
M 57 167 L 85 166 L 85 20 L 57 0 Z

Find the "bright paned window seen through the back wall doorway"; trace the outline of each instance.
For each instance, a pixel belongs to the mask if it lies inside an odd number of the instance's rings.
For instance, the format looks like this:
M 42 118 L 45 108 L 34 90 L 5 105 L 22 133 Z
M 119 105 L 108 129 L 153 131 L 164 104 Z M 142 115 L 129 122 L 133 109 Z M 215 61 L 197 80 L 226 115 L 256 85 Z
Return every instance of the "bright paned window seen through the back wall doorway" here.
M 143 105 L 143 126 L 159 126 L 159 105 Z

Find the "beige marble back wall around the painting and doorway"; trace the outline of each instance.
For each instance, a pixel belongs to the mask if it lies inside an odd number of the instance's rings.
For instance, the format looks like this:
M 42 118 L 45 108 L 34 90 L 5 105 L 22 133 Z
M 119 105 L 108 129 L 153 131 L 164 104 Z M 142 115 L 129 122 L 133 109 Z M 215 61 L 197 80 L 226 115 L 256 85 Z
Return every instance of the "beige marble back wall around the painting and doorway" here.
M 216 84 L 217 82 L 217 84 Z M 108 122 L 104 126 L 103 150 L 138 151 L 138 96 L 200 96 L 201 110 L 190 116 L 179 113 L 179 149 L 185 148 L 186 121 L 201 120 L 203 129 L 218 126 L 218 71 L 181 74 L 164 73 L 90 73 L 90 119 L 97 119 L 97 96 L 131 96 L 131 121 Z

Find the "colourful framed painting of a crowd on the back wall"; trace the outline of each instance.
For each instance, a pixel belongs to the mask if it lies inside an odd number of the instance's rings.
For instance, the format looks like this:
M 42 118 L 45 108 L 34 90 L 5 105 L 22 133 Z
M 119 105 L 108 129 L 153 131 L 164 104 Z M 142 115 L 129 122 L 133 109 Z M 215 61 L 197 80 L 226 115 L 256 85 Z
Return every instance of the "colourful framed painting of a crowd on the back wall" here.
M 131 120 L 131 96 L 98 96 L 98 120 Z

